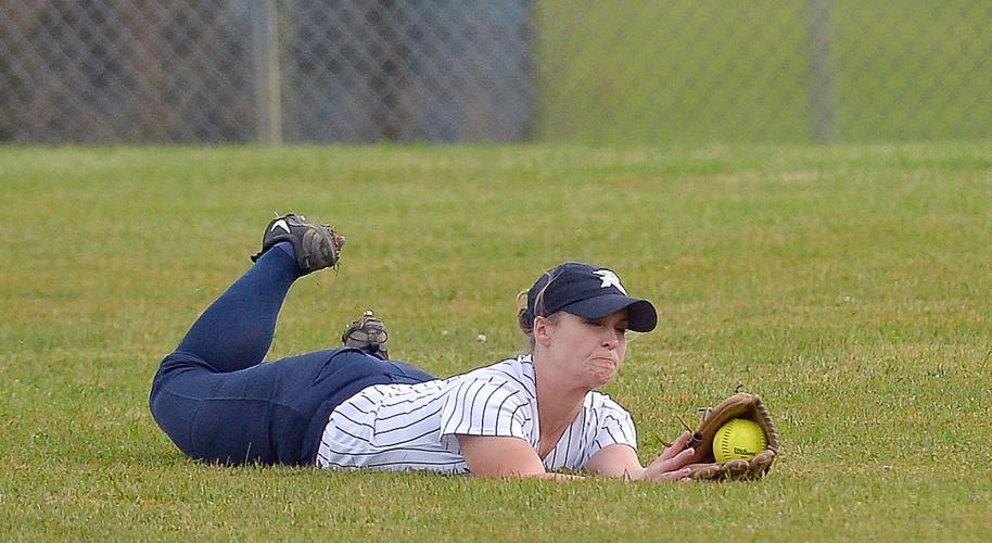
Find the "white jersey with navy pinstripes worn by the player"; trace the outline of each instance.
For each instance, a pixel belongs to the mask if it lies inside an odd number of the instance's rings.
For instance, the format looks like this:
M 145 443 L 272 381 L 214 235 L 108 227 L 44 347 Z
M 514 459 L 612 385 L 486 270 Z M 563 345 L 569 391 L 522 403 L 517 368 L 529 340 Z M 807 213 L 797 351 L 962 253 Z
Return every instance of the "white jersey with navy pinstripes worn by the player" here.
M 331 413 L 317 465 L 466 473 L 455 434 L 520 438 L 538 451 L 539 428 L 534 365 L 521 355 L 448 379 L 361 390 Z M 637 447 L 634 421 L 608 395 L 589 392 L 544 466 L 582 469 L 613 443 Z

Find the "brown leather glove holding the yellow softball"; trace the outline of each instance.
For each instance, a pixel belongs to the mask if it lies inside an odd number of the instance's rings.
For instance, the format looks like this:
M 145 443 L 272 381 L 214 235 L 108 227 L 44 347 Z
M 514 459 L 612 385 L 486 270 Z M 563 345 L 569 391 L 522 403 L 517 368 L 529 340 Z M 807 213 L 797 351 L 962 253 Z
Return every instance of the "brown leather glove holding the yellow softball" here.
M 713 455 L 716 430 L 732 418 L 751 419 L 764 431 L 767 445 L 750 460 L 737 458 L 721 463 Z M 690 464 L 686 466 L 691 470 L 692 479 L 749 481 L 761 478 L 772 468 L 778 456 L 778 431 L 760 397 L 738 392 L 709 411 L 686 444 L 688 447 L 696 449 Z

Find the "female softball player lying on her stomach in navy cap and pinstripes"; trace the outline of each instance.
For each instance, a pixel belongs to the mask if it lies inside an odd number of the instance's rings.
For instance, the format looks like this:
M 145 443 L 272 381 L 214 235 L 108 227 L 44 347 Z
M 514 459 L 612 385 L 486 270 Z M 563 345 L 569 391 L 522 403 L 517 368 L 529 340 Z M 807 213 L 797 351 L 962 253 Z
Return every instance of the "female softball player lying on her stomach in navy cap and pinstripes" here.
M 328 226 L 276 218 L 255 264 L 165 357 L 149 403 L 183 453 L 224 464 L 474 476 L 688 475 L 688 432 L 644 467 L 629 414 L 596 391 L 623 363 L 626 330 L 647 332 L 658 321 L 654 306 L 628 296 L 603 267 L 564 263 L 543 274 L 519 315 L 531 352 L 467 374 L 438 379 L 374 346 L 263 364 L 293 281 L 335 265 L 343 244 Z

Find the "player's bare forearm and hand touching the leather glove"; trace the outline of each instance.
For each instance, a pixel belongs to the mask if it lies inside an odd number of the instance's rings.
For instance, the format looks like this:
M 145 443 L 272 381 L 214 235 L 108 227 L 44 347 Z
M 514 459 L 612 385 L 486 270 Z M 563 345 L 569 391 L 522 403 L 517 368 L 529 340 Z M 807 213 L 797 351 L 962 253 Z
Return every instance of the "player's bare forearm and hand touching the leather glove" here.
M 586 463 L 585 469 L 593 473 L 623 478 L 631 481 L 674 481 L 685 479 L 689 472 L 683 468 L 692 456 L 692 450 L 685 447 L 691 434 L 684 432 L 672 446 L 647 467 L 640 465 L 637 453 L 629 445 L 614 443 L 600 449 Z

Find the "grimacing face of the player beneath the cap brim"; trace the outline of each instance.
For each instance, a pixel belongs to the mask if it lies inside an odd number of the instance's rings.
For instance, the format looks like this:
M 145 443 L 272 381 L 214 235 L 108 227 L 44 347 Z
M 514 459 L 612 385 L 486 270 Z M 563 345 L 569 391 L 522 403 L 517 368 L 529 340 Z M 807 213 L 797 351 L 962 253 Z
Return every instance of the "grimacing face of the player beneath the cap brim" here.
M 547 332 L 548 354 L 577 386 L 602 387 L 623 364 L 626 331 L 626 310 L 602 318 L 561 313 Z

